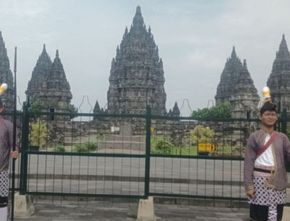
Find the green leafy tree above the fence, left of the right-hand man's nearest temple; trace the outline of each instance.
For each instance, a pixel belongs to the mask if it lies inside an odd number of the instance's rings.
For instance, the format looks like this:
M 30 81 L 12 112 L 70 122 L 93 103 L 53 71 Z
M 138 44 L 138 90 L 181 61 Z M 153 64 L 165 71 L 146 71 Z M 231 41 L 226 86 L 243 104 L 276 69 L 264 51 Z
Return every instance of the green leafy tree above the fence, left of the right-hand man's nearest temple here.
M 231 111 L 230 103 L 224 102 L 211 108 L 193 111 L 191 116 L 197 120 L 229 119 L 231 118 Z

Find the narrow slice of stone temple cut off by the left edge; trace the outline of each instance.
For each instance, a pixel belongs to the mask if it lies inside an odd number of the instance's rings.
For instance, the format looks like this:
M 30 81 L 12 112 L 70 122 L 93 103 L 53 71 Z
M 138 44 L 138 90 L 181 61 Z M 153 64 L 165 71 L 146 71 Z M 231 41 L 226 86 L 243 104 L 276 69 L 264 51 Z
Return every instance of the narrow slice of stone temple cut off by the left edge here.
M 0 85 L 6 83 L 8 85 L 7 91 L 0 96 L 6 106 L 6 111 L 13 111 L 13 75 L 10 70 L 9 58 L 7 56 L 7 49 L 0 31 Z

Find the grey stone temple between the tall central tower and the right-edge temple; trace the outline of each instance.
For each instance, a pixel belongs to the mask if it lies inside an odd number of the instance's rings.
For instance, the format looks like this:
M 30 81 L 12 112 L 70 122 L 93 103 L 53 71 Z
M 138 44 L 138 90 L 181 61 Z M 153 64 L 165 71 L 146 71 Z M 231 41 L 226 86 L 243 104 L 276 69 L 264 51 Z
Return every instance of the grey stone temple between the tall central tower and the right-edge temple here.
M 247 68 L 233 47 L 227 59 L 215 96 L 216 104 L 229 102 L 233 118 L 257 117 L 259 96 Z

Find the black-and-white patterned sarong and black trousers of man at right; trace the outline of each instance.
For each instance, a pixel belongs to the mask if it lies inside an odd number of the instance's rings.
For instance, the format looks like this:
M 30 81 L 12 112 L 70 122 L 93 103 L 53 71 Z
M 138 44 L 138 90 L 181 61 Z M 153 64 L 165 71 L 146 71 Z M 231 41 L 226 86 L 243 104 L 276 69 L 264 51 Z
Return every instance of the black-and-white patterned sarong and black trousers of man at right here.
M 255 197 L 249 201 L 250 215 L 253 220 L 279 221 L 282 219 L 286 190 L 275 190 L 268 184 L 268 179 L 270 179 L 270 174 L 254 173 L 253 182 L 256 193 Z

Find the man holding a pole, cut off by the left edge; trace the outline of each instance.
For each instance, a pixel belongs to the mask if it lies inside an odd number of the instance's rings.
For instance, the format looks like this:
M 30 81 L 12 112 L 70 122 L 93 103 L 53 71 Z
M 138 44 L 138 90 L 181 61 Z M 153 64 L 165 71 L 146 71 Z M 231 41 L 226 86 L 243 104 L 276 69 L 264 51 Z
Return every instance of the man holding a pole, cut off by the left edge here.
M 12 151 L 13 125 L 4 119 L 4 104 L 0 99 L 0 220 L 7 220 L 9 193 L 9 158 L 17 158 L 18 151 Z

